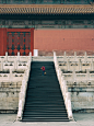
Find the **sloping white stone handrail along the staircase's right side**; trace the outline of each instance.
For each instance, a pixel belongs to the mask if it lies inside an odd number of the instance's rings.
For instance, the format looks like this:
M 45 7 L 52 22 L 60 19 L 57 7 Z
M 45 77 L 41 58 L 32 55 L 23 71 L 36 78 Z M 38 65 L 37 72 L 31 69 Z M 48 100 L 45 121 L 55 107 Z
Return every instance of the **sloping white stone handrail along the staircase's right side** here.
M 57 77 L 58 77 L 58 80 L 59 80 L 61 93 L 62 93 L 62 96 L 63 96 L 63 100 L 64 100 L 64 105 L 66 105 L 66 108 L 67 108 L 67 112 L 68 112 L 68 117 L 71 121 L 71 119 L 73 119 L 72 108 L 71 108 L 71 96 L 70 96 L 70 92 L 68 92 L 67 82 L 63 79 L 61 69 L 59 68 L 57 56 L 56 56 L 55 51 L 54 51 L 54 62 L 55 62 L 55 68 L 56 68 Z

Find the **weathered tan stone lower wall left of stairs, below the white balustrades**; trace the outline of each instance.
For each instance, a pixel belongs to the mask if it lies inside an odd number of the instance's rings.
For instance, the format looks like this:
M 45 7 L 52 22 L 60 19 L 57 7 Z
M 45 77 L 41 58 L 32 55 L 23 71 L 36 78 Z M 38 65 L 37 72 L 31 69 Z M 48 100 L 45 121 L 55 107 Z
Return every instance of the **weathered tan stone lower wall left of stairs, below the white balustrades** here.
M 0 113 L 16 113 L 21 82 L 1 82 Z

